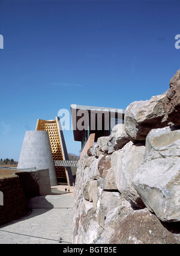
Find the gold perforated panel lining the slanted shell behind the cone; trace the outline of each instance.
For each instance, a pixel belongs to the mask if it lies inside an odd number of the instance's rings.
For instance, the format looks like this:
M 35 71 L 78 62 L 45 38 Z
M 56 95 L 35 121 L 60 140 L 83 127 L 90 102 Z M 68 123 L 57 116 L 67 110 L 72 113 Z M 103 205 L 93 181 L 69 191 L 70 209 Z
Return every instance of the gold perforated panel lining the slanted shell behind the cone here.
M 36 130 L 48 132 L 53 160 L 65 160 L 62 153 L 61 140 L 59 138 L 56 120 L 38 119 Z M 67 183 L 65 167 L 55 166 L 55 170 L 58 177 L 58 183 Z

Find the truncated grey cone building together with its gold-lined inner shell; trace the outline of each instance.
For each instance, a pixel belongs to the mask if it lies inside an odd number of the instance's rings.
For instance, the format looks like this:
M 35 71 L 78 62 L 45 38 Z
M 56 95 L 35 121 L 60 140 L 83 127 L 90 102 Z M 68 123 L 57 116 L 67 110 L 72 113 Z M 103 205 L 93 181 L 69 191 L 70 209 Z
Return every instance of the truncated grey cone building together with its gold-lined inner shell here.
M 50 185 L 73 184 L 71 167 L 55 166 L 55 161 L 68 160 L 67 148 L 59 117 L 37 120 L 35 131 L 26 131 L 17 169 L 49 169 Z

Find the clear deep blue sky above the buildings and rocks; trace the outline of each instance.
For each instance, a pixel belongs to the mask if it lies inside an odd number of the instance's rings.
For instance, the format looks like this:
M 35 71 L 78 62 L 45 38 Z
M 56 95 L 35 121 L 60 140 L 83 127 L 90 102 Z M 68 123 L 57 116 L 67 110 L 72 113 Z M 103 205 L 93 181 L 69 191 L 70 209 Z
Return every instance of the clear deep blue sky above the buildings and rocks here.
M 0 158 L 19 160 L 25 131 L 61 108 L 125 109 L 169 89 L 179 13 L 173 0 L 0 0 Z

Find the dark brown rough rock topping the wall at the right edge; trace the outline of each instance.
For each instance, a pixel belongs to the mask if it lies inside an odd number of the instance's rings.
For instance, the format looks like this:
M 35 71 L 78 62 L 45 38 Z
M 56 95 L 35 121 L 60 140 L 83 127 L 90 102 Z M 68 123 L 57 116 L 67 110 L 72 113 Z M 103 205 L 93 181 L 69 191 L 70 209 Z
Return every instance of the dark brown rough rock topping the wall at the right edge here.
M 169 86 L 163 102 L 164 111 L 169 122 L 180 125 L 180 69 L 170 80 Z

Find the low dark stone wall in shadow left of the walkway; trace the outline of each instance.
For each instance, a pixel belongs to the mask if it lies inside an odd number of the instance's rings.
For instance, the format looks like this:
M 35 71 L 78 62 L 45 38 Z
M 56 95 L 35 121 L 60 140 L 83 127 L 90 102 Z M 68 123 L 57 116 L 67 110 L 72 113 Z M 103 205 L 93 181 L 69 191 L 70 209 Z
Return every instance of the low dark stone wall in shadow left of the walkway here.
M 27 213 L 26 198 L 50 194 L 49 169 L 26 170 L 1 176 L 0 225 Z

